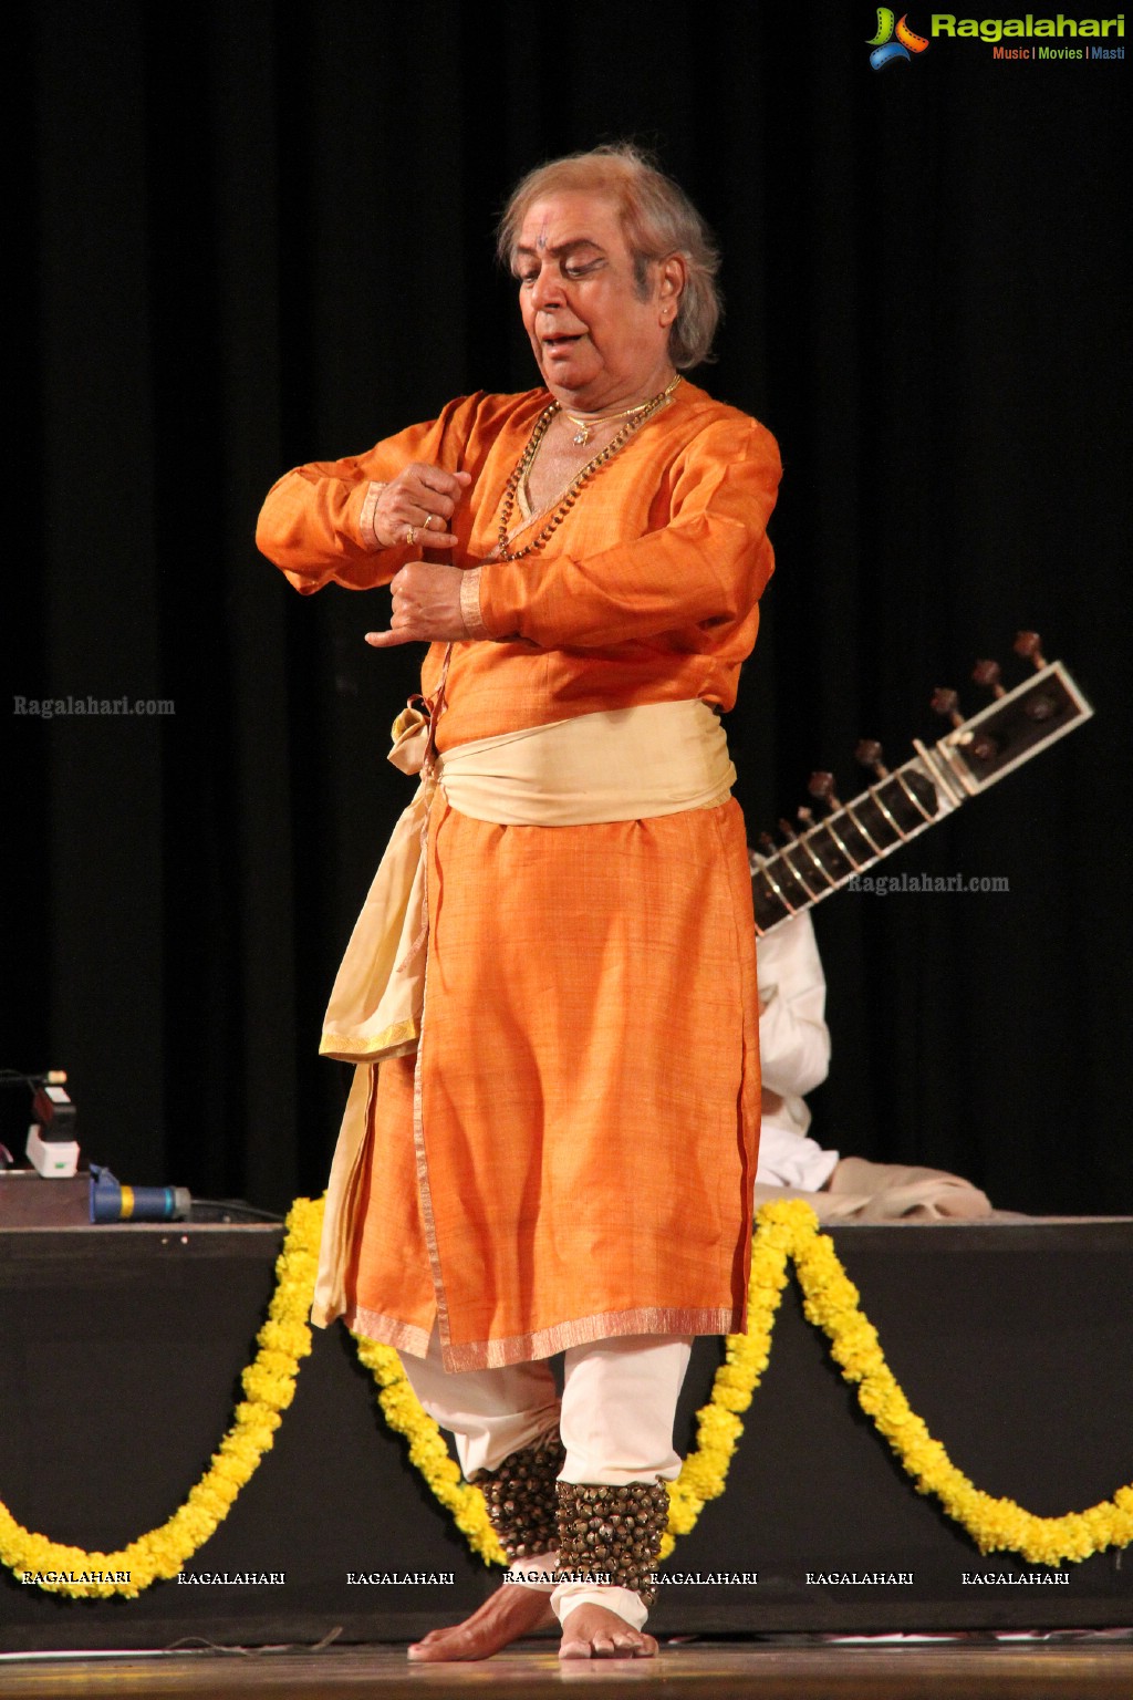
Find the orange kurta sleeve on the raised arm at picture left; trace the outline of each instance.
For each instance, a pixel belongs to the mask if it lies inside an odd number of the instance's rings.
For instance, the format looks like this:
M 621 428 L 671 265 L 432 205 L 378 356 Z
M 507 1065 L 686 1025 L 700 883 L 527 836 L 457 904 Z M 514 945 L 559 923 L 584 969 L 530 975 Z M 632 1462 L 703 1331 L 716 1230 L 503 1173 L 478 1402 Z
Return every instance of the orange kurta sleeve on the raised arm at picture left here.
M 380 484 L 413 461 L 455 473 L 464 464 L 477 401 L 450 401 L 435 420 L 409 425 L 365 454 L 311 461 L 284 473 L 260 510 L 256 547 L 304 595 L 328 583 L 348 590 L 387 585 L 409 549 L 382 549 L 374 536 Z

